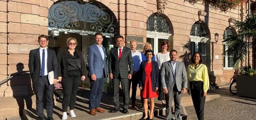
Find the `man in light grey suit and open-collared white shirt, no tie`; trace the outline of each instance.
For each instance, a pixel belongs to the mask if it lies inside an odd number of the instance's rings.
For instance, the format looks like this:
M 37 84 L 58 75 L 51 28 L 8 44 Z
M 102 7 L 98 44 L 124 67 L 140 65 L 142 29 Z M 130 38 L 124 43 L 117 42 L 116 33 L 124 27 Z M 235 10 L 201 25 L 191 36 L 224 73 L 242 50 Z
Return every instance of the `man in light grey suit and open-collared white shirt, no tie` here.
M 166 119 L 172 118 L 172 99 L 174 99 L 174 117 L 175 120 L 180 120 L 180 100 L 181 93 L 187 91 L 187 75 L 186 68 L 183 62 L 176 60 L 177 51 L 170 51 L 170 61 L 164 62 L 161 66 L 161 84 L 166 100 Z

